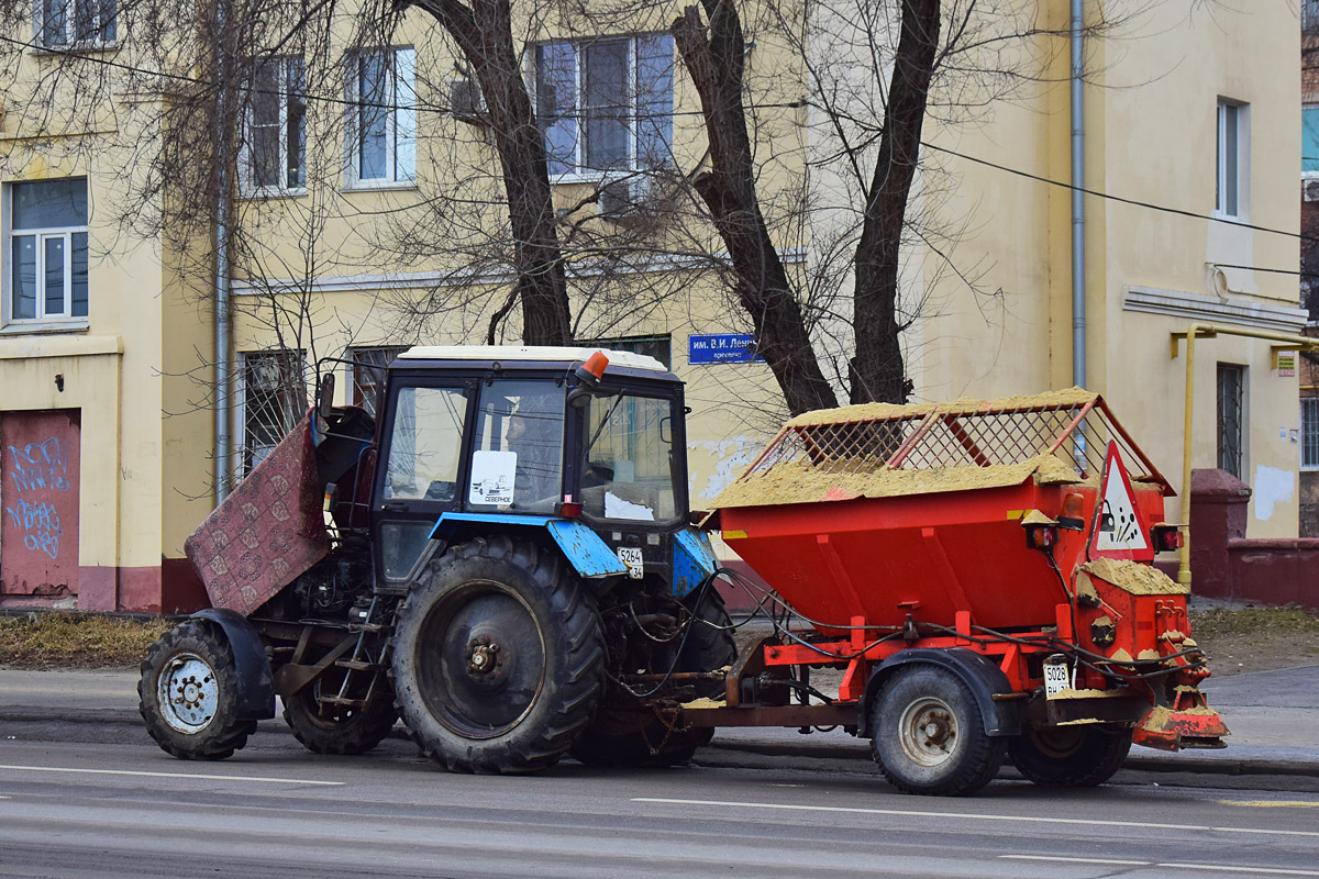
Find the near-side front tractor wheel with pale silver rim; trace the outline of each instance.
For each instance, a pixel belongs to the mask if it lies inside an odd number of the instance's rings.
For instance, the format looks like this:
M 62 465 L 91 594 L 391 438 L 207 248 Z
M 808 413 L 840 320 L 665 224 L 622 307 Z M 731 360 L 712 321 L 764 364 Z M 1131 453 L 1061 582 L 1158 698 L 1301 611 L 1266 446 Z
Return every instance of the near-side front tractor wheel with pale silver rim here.
M 137 681 L 146 733 L 183 760 L 223 760 L 247 745 L 256 721 L 237 718 L 237 677 L 230 642 L 189 619 L 146 651 Z

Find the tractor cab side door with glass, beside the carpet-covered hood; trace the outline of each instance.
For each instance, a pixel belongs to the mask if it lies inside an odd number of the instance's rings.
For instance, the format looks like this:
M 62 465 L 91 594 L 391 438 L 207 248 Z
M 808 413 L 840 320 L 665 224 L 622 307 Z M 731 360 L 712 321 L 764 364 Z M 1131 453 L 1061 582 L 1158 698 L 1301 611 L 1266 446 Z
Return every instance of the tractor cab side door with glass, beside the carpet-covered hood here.
M 384 589 L 406 589 L 435 521 L 462 507 L 463 440 L 475 397 L 475 380 L 401 376 L 389 382 L 371 503 L 376 582 Z

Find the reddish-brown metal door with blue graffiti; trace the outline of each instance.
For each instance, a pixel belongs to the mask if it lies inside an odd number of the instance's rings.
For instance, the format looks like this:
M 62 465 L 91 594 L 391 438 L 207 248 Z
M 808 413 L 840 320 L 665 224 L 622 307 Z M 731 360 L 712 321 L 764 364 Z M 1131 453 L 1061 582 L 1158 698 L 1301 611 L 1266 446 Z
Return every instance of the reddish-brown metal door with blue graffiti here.
M 0 594 L 78 594 L 80 411 L 0 414 Z

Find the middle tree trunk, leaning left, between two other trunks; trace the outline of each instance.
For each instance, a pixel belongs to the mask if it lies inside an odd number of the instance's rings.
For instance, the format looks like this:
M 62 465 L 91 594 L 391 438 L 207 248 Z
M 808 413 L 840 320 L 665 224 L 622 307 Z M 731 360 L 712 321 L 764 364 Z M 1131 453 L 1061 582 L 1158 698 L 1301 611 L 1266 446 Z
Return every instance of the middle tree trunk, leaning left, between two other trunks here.
M 756 196 L 741 100 L 745 58 L 741 21 L 733 3 L 702 1 L 710 17 L 708 30 L 696 7 L 687 7 L 673 24 L 674 42 L 700 95 L 710 137 L 712 170 L 696 177 L 694 184 L 728 248 L 737 298 L 756 331 L 756 349 L 773 370 L 789 410 L 795 415 L 828 409 L 838 399 L 820 370 L 801 304 L 787 283 Z

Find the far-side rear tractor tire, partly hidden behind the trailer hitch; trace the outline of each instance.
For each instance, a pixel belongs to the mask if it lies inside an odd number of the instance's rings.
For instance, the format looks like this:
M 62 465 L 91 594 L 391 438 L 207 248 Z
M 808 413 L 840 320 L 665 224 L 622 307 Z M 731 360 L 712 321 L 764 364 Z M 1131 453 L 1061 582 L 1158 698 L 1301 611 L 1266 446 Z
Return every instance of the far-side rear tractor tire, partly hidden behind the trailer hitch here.
M 732 621 L 723 597 L 712 588 L 699 600 L 689 598 L 692 621 L 674 671 L 706 672 L 731 666 L 737 659 Z M 720 681 L 698 684 L 696 696 L 721 698 Z M 715 730 L 679 729 L 653 710 L 601 708 L 587 731 L 572 746 L 572 756 L 587 766 L 663 767 L 689 763 L 698 747 L 710 743 Z

